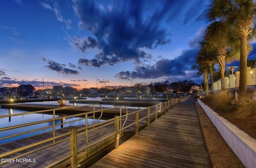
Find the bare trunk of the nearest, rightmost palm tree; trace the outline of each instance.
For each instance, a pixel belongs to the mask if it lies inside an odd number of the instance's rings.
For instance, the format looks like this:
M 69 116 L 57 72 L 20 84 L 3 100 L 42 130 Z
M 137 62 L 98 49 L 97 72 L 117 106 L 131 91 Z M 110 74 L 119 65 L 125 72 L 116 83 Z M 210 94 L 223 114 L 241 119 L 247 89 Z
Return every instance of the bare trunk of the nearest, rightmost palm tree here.
M 244 102 L 247 94 L 247 37 L 240 37 L 240 77 L 238 101 Z

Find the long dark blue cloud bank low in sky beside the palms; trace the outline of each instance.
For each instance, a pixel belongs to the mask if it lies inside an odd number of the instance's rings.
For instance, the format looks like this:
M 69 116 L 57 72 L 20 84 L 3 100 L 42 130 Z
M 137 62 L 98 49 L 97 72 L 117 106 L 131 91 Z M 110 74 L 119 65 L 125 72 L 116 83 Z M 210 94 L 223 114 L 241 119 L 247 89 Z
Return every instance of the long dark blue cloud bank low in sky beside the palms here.
M 152 78 L 168 78 L 170 76 L 186 77 L 192 66 L 196 64 L 196 55 L 199 49 L 185 50 L 176 59 L 160 59 L 154 65 L 136 66 L 132 71 L 121 71 L 116 74 L 116 78 L 130 80 L 135 78 L 152 79 Z

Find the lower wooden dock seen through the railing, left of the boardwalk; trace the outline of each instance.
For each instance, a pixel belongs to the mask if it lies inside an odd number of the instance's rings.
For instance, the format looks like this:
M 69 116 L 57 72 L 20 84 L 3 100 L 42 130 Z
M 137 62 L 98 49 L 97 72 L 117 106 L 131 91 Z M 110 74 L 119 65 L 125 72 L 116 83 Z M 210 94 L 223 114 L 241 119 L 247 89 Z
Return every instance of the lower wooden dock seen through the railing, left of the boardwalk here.
M 152 111 L 155 111 L 155 108 L 151 109 Z M 136 111 L 136 109 L 129 109 L 128 113 L 132 113 Z M 116 111 L 117 113 L 119 113 L 119 111 Z M 139 115 L 139 119 L 147 116 L 148 113 L 148 109 L 142 110 L 140 111 L 140 115 Z M 161 112 L 158 112 L 158 117 L 160 117 Z M 132 122 L 135 121 L 135 114 L 129 115 L 128 119 L 126 121 L 126 125 L 130 125 Z M 150 117 L 150 122 L 152 122 L 154 120 L 154 116 Z M 124 119 L 122 119 L 123 121 Z M 146 127 L 147 125 L 147 121 L 146 119 L 144 121 L 141 121 L 139 123 L 139 130 L 143 129 L 144 127 Z M 76 126 L 76 128 L 82 128 L 84 126 Z M 67 128 L 63 128 L 63 129 L 58 129 L 56 130 L 56 136 L 67 133 L 70 131 L 70 127 Z M 97 141 L 98 139 L 101 139 L 102 137 L 106 137 L 112 133 L 114 133 L 114 125 L 109 125 L 109 127 L 102 127 L 101 129 L 98 129 L 97 131 L 92 131 L 90 132 L 90 135 L 88 135 L 88 142 L 90 145 L 91 143 L 94 143 L 95 141 Z M 135 125 L 132 125 L 131 127 L 129 127 L 129 129 L 126 129 L 122 132 L 122 136 L 120 139 L 120 143 L 122 143 L 122 141 L 126 141 L 127 139 L 129 139 L 130 137 L 132 137 L 132 135 L 134 135 L 135 132 Z M 0 154 L 1 153 L 5 153 L 8 152 L 10 150 L 14 150 L 16 148 L 20 148 L 20 147 L 24 147 L 26 145 L 31 145 L 33 143 L 37 143 L 39 141 L 45 140 L 47 138 L 51 138 L 52 137 L 52 131 L 48 132 L 48 133 L 43 133 L 40 135 L 36 135 L 33 137 L 28 137 L 22 140 L 18 140 L 18 141 L 13 141 L 11 143 L 6 143 L 6 144 L 2 144 L 0 145 Z M 78 150 L 80 148 L 85 147 L 85 136 L 79 136 L 77 137 L 77 141 L 78 141 Z M 85 158 L 94 156 L 95 157 L 95 153 L 100 153 L 100 155 L 105 155 L 108 152 L 110 152 L 111 150 L 114 149 L 114 138 L 112 139 L 108 139 L 107 141 L 104 141 L 104 143 L 100 143 L 98 146 L 92 147 L 88 150 L 88 156 L 84 156 L 84 154 L 80 154 L 78 156 L 78 162 L 82 162 Z M 45 143 L 43 145 L 39 145 L 37 147 L 33 147 L 31 149 L 26 149 L 22 152 L 16 153 L 16 154 L 12 154 L 10 156 L 7 156 L 6 158 L 14 158 L 15 156 L 18 156 L 19 154 L 25 153 L 25 152 L 29 152 L 30 150 L 33 150 L 35 148 L 39 148 L 39 147 L 43 147 L 45 145 L 49 145 L 51 142 Z M 68 154 L 70 154 L 70 140 L 68 141 L 64 141 L 60 144 L 51 146 L 51 147 L 47 147 L 44 148 L 43 150 L 39 150 L 38 152 L 34 152 L 32 154 L 28 154 L 22 158 L 25 159 L 35 159 L 35 162 L 11 162 L 11 163 L 6 163 L 3 165 L 0 165 L 0 168 L 9 168 L 9 167 L 29 167 L 29 168 L 43 168 L 47 165 L 49 165 L 52 162 L 55 162 L 56 160 L 63 158 L 65 156 L 68 156 Z M 64 165 L 68 165 L 69 163 L 65 163 Z M 63 165 L 62 165 L 63 166 Z M 60 166 L 60 167 L 62 167 Z M 58 166 L 57 166 L 58 167 Z

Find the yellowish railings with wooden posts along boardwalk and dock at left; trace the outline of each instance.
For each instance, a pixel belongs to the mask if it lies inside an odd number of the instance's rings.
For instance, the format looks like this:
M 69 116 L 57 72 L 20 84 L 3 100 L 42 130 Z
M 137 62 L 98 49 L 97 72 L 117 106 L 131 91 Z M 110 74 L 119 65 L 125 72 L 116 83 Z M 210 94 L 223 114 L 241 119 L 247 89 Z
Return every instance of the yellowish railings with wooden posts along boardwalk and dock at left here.
M 158 114 L 163 115 L 164 113 L 166 113 L 167 111 L 169 111 L 169 109 L 171 109 L 172 107 L 174 107 L 175 105 L 178 104 L 178 102 L 182 101 L 183 99 L 187 98 L 188 96 L 184 96 L 183 98 L 175 98 L 172 100 L 169 100 L 167 102 L 162 102 L 156 105 L 153 105 L 151 107 L 148 107 L 146 109 L 140 109 L 131 113 L 128 113 L 128 109 L 125 106 L 119 106 L 119 107 L 113 107 L 113 108 L 107 108 L 107 109 L 100 109 L 100 110 L 95 110 L 95 111 L 89 111 L 89 112 L 84 112 L 84 113 L 79 113 L 79 114 L 74 114 L 74 115 L 68 115 L 68 116 L 64 116 L 64 117 L 59 117 L 59 118 L 53 118 L 53 119 L 47 119 L 44 121 L 37 121 L 37 122 L 32 122 L 32 123 L 26 123 L 26 124 L 22 124 L 22 125 L 16 125 L 16 126 L 12 126 L 12 127 L 5 127 L 5 128 L 1 128 L 1 131 L 6 131 L 6 130 L 11 130 L 14 128 L 20 128 L 20 127 L 25 127 L 25 126 L 29 126 L 29 125 L 35 125 L 38 123 L 44 123 L 44 122 L 50 122 L 50 121 L 56 121 L 56 120 L 60 120 L 60 119 L 64 119 L 64 118 L 69 118 L 69 117 L 80 117 L 80 116 L 84 116 L 86 119 L 86 123 L 85 123 L 85 127 L 82 127 L 80 129 L 77 128 L 71 128 L 70 132 L 68 133 L 63 133 L 61 135 L 53 135 L 53 137 L 48 138 L 48 139 L 44 139 L 42 141 L 38 141 L 36 143 L 30 144 L 30 145 L 26 145 L 24 147 L 19 147 L 16 148 L 14 150 L 10 150 L 8 152 L 4 152 L 0 154 L 0 158 L 6 158 L 7 156 L 10 156 L 12 154 L 17 154 L 14 158 L 12 159 L 18 159 L 21 158 L 23 156 L 26 156 L 28 154 L 32 154 L 34 152 L 37 152 L 39 150 L 43 150 L 45 148 L 48 147 L 52 147 L 54 145 L 57 145 L 58 143 L 62 143 L 64 141 L 70 141 L 70 154 L 68 154 L 67 156 L 58 159 L 56 162 L 53 162 L 52 164 L 48 164 L 48 166 L 46 166 L 47 168 L 50 168 L 52 166 L 55 166 L 57 164 L 61 164 L 63 162 L 69 162 L 70 163 L 70 167 L 71 168 L 76 168 L 77 167 L 77 163 L 81 162 L 81 158 L 80 160 L 78 160 L 78 155 L 82 154 L 83 157 L 82 159 L 84 160 L 84 158 L 88 157 L 88 156 L 84 156 L 85 154 L 88 154 L 88 149 L 93 147 L 96 144 L 102 143 L 104 141 L 106 141 L 107 139 L 111 139 L 113 138 L 115 141 L 115 147 L 118 148 L 119 146 L 119 139 L 122 136 L 122 131 L 124 131 L 125 129 L 135 125 L 135 133 L 138 133 L 139 130 L 139 122 L 146 122 L 147 125 L 150 124 L 150 117 L 153 116 L 154 120 L 156 120 L 158 118 Z M 84 107 L 86 105 L 83 106 L 78 106 L 78 107 Z M 69 107 L 66 108 L 61 108 L 61 109 L 68 109 Z M 76 108 L 76 107 L 70 107 L 70 108 Z M 95 113 L 98 112 L 104 112 L 106 110 L 111 110 L 111 109 L 120 109 L 120 115 L 116 115 L 114 118 L 111 119 L 107 119 L 105 121 L 101 121 L 98 122 L 99 120 L 97 120 L 96 122 L 94 122 L 92 125 L 88 125 L 88 121 L 87 119 L 90 117 L 93 117 L 93 119 L 95 119 Z M 122 108 L 126 109 L 125 114 L 122 114 Z M 151 109 L 154 109 L 151 111 Z M 60 110 L 60 109 L 52 109 L 52 111 L 56 111 L 56 110 Z M 143 110 L 147 110 L 147 116 L 146 117 L 140 117 L 140 112 Z M 33 112 L 28 112 L 26 114 L 29 113 L 42 113 L 42 112 L 46 112 L 46 111 L 50 111 L 50 110 L 41 110 L 39 111 L 33 111 Z M 25 113 L 22 113 L 21 115 L 24 115 Z M 134 116 L 135 114 L 135 119 L 134 122 L 126 125 L 126 121 L 128 116 Z M 13 114 L 13 115 L 4 115 L 4 116 L 0 116 L 0 117 L 9 117 L 9 116 L 14 116 L 14 115 L 19 115 L 19 114 Z M 88 116 L 88 115 L 92 115 L 92 116 Z M 102 116 L 102 115 L 100 115 Z M 84 118 L 83 118 L 84 119 Z M 146 120 L 146 121 L 145 121 Z M 70 121 L 70 122 L 75 122 L 77 120 L 74 121 Z M 123 123 L 122 123 L 123 121 Z M 63 125 L 66 123 L 60 123 L 60 124 L 56 124 L 56 126 L 58 125 Z M 114 129 L 112 129 L 112 131 L 110 131 L 109 133 L 106 133 L 106 135 L 104 137 L 101 137 L 100 139 L 98 139 L 97 141 L 88 142 L 88 133 L 91 131 L 95 131 L 97 129 L 101 129 L 103 127 L 108 127 L 109 129 L 113 128 L 114 125 Z M 111 126 L 111 127 L 110 127 Z M 54 126 L 49 126 L 49 127 L 44 127 L 45 128 L 50 128 L 50 127 L 54 127 Z M 41 129 L 36 129 L 36 131 L 41 130 Z M 34 131 L 34 130 L 32 130 Z M 27 133 L 29 131 L 26 131 L 24 133 Z M 20 133 L 18 134 L 20 135 Z M 78 144 L 77 144 L 77 137 L 85 135 L 85 143 L 84 143 L 84 147 L 78 148 Z M 1 139 L 4 138 L 8 138 L 8 137 L 13 137 L 15 135 L 11 135 L 11 136 L 7 136 L 7 137 L 2 137 Z M 17 136 L 17 134 L 16 134 Z M 42 147 L 38 147 L 38 145 L 43 145 Z M 35 148 L 33 150 L 30 150 L 28 152 L 24 152 L 24 150 L 28 150 L 30 148 Z M 22 152 L 23 151 L 23 152 Z M 22 152 L 22 154 L 18 154 L 19 152 Z M 6 162 L 1 162 L 0 165 L 5 164 Z

